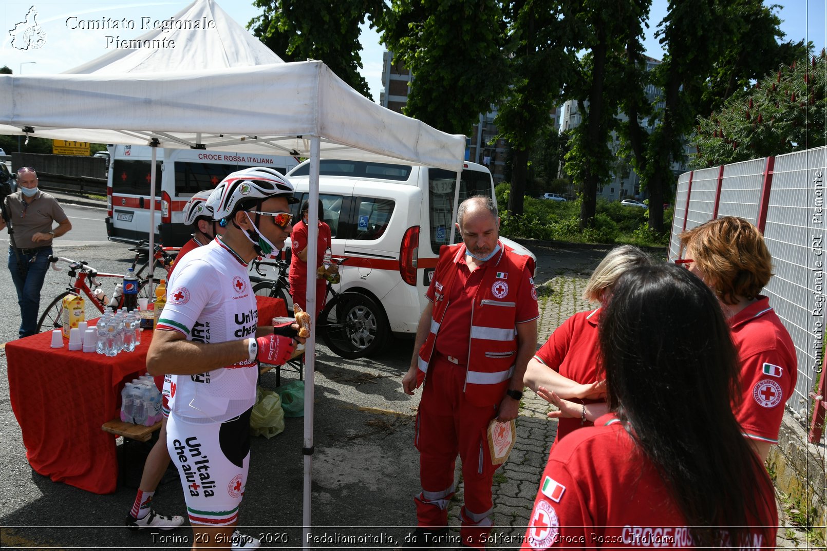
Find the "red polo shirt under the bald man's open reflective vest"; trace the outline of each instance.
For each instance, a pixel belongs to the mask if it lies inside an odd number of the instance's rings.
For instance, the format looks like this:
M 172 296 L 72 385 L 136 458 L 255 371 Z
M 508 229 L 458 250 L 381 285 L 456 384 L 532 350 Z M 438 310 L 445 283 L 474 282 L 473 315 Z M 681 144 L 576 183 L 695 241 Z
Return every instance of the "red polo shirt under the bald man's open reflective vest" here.
M 439 324 L 435 350 L 442 356 L 457 358 L 461 364 L 468 362 L 468 343 L 471 342 L 471 306 L 474 304 L 477 288 L 483 279 L 485 270 L 496 270 L 496 266 L 485 262 L 475 271 L 471 271 L 465 261 L 465 255 L 457 261 L 457 276 L 453 280 L 451 289 L 443 289 L 443 299 L 450 301 L 450 306 L 445 310 L 442 322 Z M 531 273 L 526 270 L 519 274 L 510 274 L 510 277 L 522 278 L 517 295 L 517 323 L 529 322 L 538 318 L 537 300 L 531 295 L 534 284 Z M 504 280 L 508 282 L 509 274 L 504 274 Z M 431 280 L 425 296 L 431 302 L 434 301 L 434 284 L 436 278 Z

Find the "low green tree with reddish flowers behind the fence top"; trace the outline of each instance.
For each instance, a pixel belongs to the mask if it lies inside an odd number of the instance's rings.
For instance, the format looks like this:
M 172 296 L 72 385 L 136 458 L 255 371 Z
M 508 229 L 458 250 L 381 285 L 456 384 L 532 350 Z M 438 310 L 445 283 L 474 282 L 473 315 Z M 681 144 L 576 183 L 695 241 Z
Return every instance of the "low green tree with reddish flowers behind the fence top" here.
M 803 59 L 735 94 L 700 117 L 692 143 L 695 168 L 782 155 L 824 144 L 827 135 L 827 52 Z

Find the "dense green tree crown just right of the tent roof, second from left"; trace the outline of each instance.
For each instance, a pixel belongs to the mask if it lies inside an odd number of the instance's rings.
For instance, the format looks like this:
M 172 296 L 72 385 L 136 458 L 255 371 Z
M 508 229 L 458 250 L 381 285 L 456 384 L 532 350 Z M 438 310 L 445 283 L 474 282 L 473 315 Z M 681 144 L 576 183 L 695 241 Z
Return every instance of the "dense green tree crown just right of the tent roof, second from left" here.
M 392 0 L 379 22 L 394 59 L 411 71 L 403 113 L 470 134 L 505 87 L 503 12 L 496 0 Z

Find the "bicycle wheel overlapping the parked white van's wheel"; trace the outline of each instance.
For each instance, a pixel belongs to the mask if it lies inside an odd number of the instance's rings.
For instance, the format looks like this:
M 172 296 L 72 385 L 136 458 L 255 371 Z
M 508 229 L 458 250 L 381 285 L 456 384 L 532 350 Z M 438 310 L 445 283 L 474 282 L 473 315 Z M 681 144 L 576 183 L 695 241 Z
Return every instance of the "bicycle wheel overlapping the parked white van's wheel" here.
M 378 352 L 388 337 L 385 312 L 367 295 L 344 292 L 322 310 L 318 334 L 338 356 L 349 359 Z

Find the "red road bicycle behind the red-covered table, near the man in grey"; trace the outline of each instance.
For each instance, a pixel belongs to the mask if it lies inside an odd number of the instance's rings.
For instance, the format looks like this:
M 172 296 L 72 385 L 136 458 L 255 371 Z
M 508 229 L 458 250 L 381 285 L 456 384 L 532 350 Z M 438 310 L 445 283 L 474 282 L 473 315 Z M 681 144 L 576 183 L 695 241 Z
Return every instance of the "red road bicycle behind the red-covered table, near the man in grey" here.
M 101 282 L 98 281 L 98 278 L 112 278 L 114 280 L 113 283 L 117 285 L 117 283 L 123 280 L 123 274 L 108 274 L 96 270 L 92 266 L 89 266 L 85 261 L 74 261 L 70 258 L 62 258 L 59 256 L 49 256 L 49 261 L 52 265 L 52 269 L 55 271 L 61 269 L 57 265 L 59 261 L 66 262 L 69 265 L 69 286 L 63 293 L 52 299 L 49 305 L 43 310 L 41 318 L 37 321 L 38 333 L 63 328 L 63 299 L 68 295 L 80 295 L 83 293 L 88 298 L 87 304 L 92 304 L 101 314 L 103 314 L 105 309 L 111 308 L 108 302 L 107 304 L 104 304 L 101 299 L 98 299 L 98 297 L 94 294 L 96 289 L 103 286 Z M 157 282 L 158 280 L 155 280 L 155 285 L 157 285 Z M 139 298 L 149 299 L 150 285 L 147 285 L 148 283 L 148 279 L 138 278 Z M 115 287 L 113 285 L 112 290 L 110 291 L 110 296 L 114 293 L 114 291 Z M 122 306 L 123 295 L 118 298 L 116 309 L 121 309 Z

